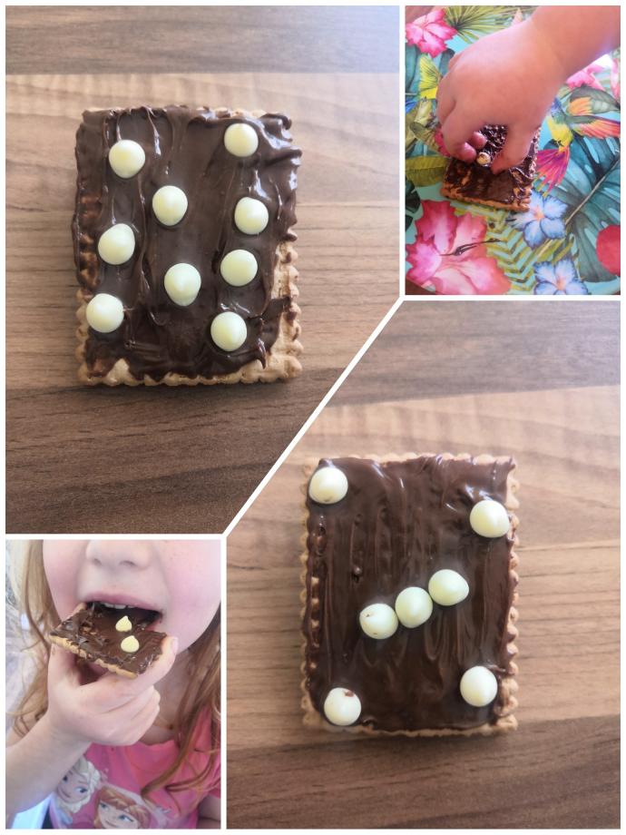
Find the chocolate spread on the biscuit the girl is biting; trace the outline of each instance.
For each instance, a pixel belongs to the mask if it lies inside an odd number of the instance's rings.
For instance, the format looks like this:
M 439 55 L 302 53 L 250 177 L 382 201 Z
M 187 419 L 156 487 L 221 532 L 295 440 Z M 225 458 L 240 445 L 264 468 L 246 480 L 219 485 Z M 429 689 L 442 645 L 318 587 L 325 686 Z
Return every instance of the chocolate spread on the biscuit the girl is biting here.
M 131 621 L 132 630 L 118 632 L 115 624 L 124 615 Z M 161 655 L 161 642 L 165 634 L 148 631 L 158 616 L 157 612 L 135 606 L 111 609 L 93 603 L 62 621 L 50 633 L 50 639 L 87 661 L 135 677 L 145 673 Z M 139 642 L 139 649 L 135 653 L 122 650 L 121 643 L 129 635 L 133 635 Z

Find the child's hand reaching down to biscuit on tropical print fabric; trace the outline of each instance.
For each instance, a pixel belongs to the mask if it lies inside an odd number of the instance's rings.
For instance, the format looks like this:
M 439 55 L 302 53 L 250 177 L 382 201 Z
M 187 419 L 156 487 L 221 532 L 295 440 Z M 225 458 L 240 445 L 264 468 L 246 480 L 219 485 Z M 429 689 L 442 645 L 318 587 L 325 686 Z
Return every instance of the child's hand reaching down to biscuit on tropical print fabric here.
M 499 173 L 522 162 L 566 72 L 533 18 L 489 34 L 450 61 L 439 84 L 437 116 L 452 156 L 473 162 L 485 124 L 507 127 L 491 165 Z

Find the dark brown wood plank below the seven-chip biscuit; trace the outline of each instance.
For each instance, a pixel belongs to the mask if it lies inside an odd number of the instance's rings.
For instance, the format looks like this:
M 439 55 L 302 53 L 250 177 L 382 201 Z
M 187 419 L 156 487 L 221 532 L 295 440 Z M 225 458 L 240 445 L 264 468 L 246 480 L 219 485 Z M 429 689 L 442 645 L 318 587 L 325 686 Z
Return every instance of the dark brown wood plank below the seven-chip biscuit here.
M 227 820 L 240 829 L 612 829 L 619 771 L 617 716 L 536 722 L 493 740 L 231 752 Z

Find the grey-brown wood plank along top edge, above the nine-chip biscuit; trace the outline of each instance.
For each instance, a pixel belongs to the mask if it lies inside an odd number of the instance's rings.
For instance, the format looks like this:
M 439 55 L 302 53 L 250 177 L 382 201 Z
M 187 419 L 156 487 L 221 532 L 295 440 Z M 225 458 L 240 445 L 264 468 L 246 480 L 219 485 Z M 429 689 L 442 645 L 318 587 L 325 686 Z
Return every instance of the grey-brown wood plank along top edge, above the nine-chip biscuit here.
M 395 6 L 9 6 L 6 73 L 397 73 Z

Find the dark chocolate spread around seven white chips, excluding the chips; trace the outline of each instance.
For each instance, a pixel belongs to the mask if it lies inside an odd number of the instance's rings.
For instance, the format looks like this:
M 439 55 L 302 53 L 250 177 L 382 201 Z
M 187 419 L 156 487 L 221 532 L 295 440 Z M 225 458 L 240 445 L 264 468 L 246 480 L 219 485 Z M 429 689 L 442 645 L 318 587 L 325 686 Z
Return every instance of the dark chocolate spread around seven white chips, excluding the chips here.
M 344 687 L 360 699 L 357 724 L 373 731 L 466 731 L 498 721 L 506 701 L 502 679 L 513 674 L 507 646 L 513 538 L 485 539 L 469 524 L 476 502 L 506 500 L 514 462 L 492 461 L 319 462 L 339 467 L 348 483 L 337 504 L 307 499 L 305 687 L 320 715 L 328 692 Z M 427 589 L 443 568 L 467 580 L 464 601 L 434 603 L 425 624 L 399 624 L 385 640 L 363 632 L 362 609 L 373 603 L 393 608 L 403 589 Z M 463 673 L 475 665 L 487 667 L 499 683 L 486 707 L 472 707 L 459 691 Z

